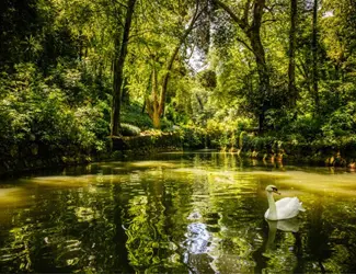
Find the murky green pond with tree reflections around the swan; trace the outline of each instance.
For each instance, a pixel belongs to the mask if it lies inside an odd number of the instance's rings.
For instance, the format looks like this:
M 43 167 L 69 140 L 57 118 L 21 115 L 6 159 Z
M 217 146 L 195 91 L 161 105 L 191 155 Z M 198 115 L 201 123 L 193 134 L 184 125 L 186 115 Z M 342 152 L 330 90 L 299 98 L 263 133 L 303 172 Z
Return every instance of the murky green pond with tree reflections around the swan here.
M 298 196 L 264 219 L 265 187 Z M 162 153 L 2 180 L 1 272 L 356 272 L 356 174 Z

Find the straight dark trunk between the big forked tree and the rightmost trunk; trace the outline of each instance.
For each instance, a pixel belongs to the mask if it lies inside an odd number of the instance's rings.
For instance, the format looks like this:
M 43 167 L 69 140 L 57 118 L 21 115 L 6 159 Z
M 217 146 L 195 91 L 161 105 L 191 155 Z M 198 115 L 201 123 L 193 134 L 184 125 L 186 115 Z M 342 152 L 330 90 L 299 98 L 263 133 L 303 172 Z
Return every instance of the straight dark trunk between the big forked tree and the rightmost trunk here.
M 290 30 L 289 30 L 289 66 L 288 66 L 288 91 L 290 106 L 296 106 L 298 91 L 296 88 L 296 28 L 297 28 L 297 0 L 290 0 Z

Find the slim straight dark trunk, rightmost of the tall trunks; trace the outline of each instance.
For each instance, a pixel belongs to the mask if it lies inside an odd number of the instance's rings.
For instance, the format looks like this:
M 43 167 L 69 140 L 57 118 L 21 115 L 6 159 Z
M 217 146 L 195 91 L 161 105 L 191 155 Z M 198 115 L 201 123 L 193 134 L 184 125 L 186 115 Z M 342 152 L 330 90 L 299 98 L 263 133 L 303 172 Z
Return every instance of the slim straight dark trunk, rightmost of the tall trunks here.
M 320 102 L 319 102 L 319 87 L 318 87 L 318 0 L 314 0 L 313 14 L 312 14 L 312 89 L 315 103 L 315 112 L 319 115 Z

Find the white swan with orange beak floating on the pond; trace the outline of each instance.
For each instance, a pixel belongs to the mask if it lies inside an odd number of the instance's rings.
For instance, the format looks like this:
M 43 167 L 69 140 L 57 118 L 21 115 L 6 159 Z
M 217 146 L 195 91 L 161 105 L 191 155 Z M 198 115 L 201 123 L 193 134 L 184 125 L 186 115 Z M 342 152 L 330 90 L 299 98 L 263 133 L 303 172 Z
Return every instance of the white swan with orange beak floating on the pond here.
M 301 206 L 301 202 L 297 197 L 292 198 L 282 198 L 275 203 L 273 198 L 273 193 L 278 192 L 277 187 L 274 185 L 268 185 L 266 187 L 268 206 L 269 208 L 266 210 L 264 217 L 268 220 L 283 220 L 290 219 L 296 217 L 299 212 L 305 212 L 306 209 Z

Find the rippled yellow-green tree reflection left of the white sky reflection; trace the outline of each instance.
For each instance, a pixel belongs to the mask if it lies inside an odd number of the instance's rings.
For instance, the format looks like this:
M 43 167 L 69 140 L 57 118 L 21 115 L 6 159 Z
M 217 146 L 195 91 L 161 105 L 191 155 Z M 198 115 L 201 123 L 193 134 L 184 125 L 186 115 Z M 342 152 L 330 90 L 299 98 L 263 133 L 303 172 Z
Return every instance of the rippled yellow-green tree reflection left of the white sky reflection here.
M 154 184 L 145 186 L 146 195 L 135 196 L 129 203 L 129 222 L 126 230 L 129 262 L 136 271 L 186 271 L 176 252 L 179 247 L 168 235 L 170 216 L 165 215 L 163 203 L 172 204 L 172 195 L 168 195 L 160 179 Z

